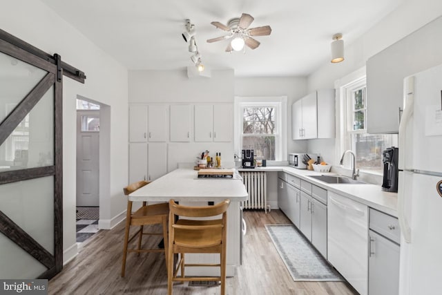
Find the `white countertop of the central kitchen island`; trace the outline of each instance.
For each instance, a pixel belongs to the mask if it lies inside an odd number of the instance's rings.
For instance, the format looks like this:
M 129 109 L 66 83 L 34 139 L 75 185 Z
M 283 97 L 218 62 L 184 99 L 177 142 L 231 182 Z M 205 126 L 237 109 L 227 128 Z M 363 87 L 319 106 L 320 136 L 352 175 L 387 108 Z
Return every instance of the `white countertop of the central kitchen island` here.
M 241 179 L 195 179 L 198 171 L 176 169 L 129 195 L 131 201 L 213 201 L 229 198 L 231 202 L 247 200 Z

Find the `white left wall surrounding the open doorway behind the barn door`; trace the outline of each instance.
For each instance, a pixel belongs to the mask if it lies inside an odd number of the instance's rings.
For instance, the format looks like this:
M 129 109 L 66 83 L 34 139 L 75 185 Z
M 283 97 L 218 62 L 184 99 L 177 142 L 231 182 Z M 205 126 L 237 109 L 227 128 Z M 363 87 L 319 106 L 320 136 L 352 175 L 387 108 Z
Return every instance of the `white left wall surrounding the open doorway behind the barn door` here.
M 117 216 L 126 209 L 122 187 L 128 180 L 127 70 L 40 1 L 3 0 L 1 10 L 3 13 L 0 18 L 0 28 L 46 53 L 51 55 L 58 53 L 63 61 L 84 71 L 87 77 L 85 84 L 64 77 L 63 243 L 66 262 L 77 254 L 75 240 L 75 99 L 77 95 L 102 102 L 109 108 L 110 126 L 107 127 L 110 144 L 108 158 L 104 159 L 108 161 L 109 171 L 105 173 L 106 183 L 102 185 L 108 190 L 105 195 L 100 196 L 100 222 L 104 221 L 104 224 L 113 226 L 118 219 Z

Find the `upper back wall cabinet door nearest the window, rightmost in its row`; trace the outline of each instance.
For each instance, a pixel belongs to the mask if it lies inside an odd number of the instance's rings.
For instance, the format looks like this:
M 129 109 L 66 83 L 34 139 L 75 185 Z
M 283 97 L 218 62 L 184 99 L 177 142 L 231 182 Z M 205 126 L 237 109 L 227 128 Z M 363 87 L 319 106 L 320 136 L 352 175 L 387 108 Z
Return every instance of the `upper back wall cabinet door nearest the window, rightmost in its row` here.
M 219 104 L 213 106 L 213 141 L 233 141 L 233 105 Z

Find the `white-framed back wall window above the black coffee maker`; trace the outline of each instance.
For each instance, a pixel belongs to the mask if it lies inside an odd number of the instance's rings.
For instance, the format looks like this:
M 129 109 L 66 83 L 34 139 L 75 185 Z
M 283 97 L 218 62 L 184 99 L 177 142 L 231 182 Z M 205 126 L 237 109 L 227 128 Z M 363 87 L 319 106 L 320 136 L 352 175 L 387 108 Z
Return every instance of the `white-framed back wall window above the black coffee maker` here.
M 253 149 L 258 160 L 287 158 L 287 97 L 236 97 L 235 107 L 238 155 Z

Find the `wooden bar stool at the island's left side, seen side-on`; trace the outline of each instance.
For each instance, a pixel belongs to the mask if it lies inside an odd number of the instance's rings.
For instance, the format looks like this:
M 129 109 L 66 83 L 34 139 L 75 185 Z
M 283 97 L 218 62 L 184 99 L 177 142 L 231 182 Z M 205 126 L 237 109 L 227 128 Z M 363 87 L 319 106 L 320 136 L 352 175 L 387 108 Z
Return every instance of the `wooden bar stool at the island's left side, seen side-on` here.
M 123 189 L 124 195 L 128 195 L 129 193 L 133 193 L 140 187 L 144 187 L 149 182 L 144 180 L 139 182 L 134 182 L 129 184 L 127 187 Z M 126 270 L 126 256 L 129 252 L 135 252 L 140 255 L 142 252 L 164 252 L 164 256 L 166 258 L 166 266 L 167 266 L 167 219 L 169 218 L 169 204 L 151 204 L 147 205 L 146 202 L 143 202 L 143 205 L 140 209 L 132 213 L 132 201 L 127 200 L 127 212 L 126 212 L 126 231 L 124 233 L 124 249 L 123 249 L 123 261 L 122 261 L 122 276 L 124 277 L 124 273 Z M 162 232 L 144 232 L 144 225 L 162 225 Z M 129 238 L 129 230 L 132 225 L 139 225 L 140 229 L 138 229 L 131 238 Z M 150 236 L 163 236 L 164 238 L 164 249 L 142 249 L 142 238 L 143 235 Z M 128 249 L 128 243 L 138 236 L 138 245 L 137 249 Z

